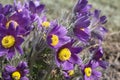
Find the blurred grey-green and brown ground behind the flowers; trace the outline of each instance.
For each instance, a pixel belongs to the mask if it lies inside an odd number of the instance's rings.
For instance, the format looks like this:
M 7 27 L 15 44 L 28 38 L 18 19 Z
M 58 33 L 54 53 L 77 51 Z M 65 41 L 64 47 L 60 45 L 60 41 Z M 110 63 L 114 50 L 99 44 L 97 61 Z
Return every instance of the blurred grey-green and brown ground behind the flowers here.
M 64 13 L 72 12 L 77 0 L 41 0 L 46 4 L 49 19 L 61 17 Z M 88 0 L 93 8 L 100 9 L 106 15 L 108 22 L 106 28 L 109 32 L 103 42 L 104 59 L 110 64 L 103 71 L 101 80 L 120 80 L 120 0 Z M 0 3 L 10 4 L 13 0 L 0 0 Z

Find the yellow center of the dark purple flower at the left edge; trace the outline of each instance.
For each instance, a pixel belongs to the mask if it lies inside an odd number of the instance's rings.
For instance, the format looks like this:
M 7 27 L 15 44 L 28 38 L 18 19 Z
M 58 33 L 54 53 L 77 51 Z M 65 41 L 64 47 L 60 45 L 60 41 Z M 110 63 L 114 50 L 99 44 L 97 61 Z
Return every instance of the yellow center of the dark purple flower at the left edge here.
M 10 48 L 15 44 L 15 38 L 11 35 L 7 35 L 2 39 L 2 46 L 4 48 Z

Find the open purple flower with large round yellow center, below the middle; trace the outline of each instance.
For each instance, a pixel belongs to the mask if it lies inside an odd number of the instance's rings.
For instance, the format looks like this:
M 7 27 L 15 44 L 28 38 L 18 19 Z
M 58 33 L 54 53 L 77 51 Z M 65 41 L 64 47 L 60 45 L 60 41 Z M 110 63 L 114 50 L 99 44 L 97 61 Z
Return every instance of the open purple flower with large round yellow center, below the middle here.
M 61 67 L 62 70 L 74 69 L 75 64 L 81 64 L 82 60 L 77 55 L 82 51 L 81 47 L 72 47 L 74 41 L 68 42 L 58 49 L 55 54 L 56 64 Z

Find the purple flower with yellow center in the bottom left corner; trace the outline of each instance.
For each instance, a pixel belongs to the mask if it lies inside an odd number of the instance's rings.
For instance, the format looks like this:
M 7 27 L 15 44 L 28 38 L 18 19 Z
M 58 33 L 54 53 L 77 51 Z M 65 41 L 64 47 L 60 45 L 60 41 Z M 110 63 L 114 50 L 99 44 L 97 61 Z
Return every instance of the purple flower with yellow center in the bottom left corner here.
M 2 77 L 4 80 L 29 80 L 26 75 L 29 73 L 26 62 L 20 62 L 17 67 L 7 65 L 4 67 Z

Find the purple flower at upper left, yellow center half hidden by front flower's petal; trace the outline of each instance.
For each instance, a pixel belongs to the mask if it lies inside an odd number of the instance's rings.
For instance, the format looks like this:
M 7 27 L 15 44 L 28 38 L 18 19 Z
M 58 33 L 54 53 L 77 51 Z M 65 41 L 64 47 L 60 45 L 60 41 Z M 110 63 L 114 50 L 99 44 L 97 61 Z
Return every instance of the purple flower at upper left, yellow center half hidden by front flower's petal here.
M 13 22 L 18 27 L 20 35 L 27 35 L 31 29 L 31 24 L 33 23 L 30 17 L 28 10 L 24 9 L 20 12 L 16 12 L 9 17 L 6 26 L 9 26 L 9 23 Z

